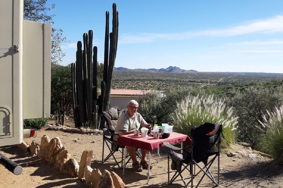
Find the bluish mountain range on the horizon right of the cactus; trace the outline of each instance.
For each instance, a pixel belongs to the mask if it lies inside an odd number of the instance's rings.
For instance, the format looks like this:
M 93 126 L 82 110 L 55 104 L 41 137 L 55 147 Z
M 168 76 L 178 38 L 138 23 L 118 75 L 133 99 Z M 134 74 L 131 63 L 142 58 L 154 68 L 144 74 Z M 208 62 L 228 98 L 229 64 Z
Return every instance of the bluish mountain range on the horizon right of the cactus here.
M 124 68 L 124 67 L 114 67 L 114 70 L 129 70 L 129 71 L 148 71 L 148 72 L 163 72 L 163 73 L 173 73 L 173 72 L 192 72 L 192 73 L 196 73 L 198 71 L 196 70 L 184 70 L 184 69 L 180 69 L 179 67 L 167 67 L 167 68 L 160 68 L 160 69 L 156 69 L 156 68 L 149 68 L 149 69 L 143 69 L 143 68 L 135 68 L 135 69 L 129 69 L 129 68 Z

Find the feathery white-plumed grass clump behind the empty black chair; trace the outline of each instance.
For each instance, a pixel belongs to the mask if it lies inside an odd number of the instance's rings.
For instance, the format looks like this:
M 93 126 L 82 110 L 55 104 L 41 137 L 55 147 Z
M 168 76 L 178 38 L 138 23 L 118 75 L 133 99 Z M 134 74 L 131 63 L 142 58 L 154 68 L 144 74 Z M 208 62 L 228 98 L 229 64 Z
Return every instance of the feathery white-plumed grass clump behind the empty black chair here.
M 190 135 L 193 126 L 202 125 L 205 122 L 220 122 L 223 124 L 221 148 L 227 148 L 234 143 L 234 130 L 238 117 L 233 117 L 232 108 L 226 106 L 224 99 L 214 98 L 213 95 L 188 96 L 177 105 L 177 111 L 173 118 L 174 131 Z

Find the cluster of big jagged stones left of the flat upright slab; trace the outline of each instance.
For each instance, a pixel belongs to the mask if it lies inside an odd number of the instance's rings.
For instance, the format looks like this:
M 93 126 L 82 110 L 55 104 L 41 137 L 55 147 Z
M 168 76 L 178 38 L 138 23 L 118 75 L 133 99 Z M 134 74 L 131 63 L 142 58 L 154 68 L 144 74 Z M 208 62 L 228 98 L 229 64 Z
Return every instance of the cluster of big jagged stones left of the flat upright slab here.
M 79 164 L 74 158 L 70 158 L 69 151 L 62 145 L 59 137 L 50 140 L 47 135 L 41 138 L 37 157 L 54 165 L 60 174 L 78 177 Z

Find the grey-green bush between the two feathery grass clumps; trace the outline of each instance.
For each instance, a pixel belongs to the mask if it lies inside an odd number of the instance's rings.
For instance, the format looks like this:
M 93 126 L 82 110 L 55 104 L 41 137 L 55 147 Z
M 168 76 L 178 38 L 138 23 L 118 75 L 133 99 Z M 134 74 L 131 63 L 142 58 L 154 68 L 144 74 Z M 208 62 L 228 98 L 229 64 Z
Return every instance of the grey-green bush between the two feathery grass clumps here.
M 266 87 L 264 85 L 251 86 L 243 91 L 232 90 L 229 105 L 233 106 L 236 116 L 239 117 L 236 139 L 247 142 L 254 148 L 259 142 L 261 131 L 255 126 L 261 126 L 266 110 L 282 103 L 282 86 Z

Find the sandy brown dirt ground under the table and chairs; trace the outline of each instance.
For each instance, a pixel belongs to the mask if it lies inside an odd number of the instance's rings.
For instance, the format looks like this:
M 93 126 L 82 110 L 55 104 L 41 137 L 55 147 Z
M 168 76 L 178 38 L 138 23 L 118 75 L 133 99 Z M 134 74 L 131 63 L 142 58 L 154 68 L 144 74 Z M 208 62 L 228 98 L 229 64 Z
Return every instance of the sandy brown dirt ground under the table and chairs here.
M 122 175 L 122 169 L 117 166 L 112 168 L 114 160 L 108 160 L 106 163 L 101 163 L 102 158 L 102 135 L 81 135 L 71 134 L 61 131 L 47 131 L 46 128 L 38 130 L 37 137 L 34 140 L 40 141 L 43 135 L 48 135 L 50 139 L 60 137 L 63 145 L 69 150 L 71 157 L 74 157 L 77 162 L 80 162 L 80 156 L 83 150 L 93 150 L 93 160 L 91 163 L 92 168 L 98 168 L 101 171 L 107 169 L 114 171 L 124 181 L 127 187 L 184 187 L 182 180 L 177 178 L 171 185 L 167 185 L 167 150 L 160 148 L 160 163 L 157 163 L 157 151 L 154 150 L 152 154 L 152 164 L 154 167 L 151 170 L 150 185 L 147 185 L 147 171 L 143 170 L 141 173 L 134 172 L 131 168 L 131 163 L 126 167 L 126 175 Z M 80 139 L 78 139 L 80 138 Z M 78 142 L 73 140 L 77 139 Z M 31 142 L 32 139 L 24 139 Z M 92 141 L 95 143 L 91 143 Z M 243 149 L 243 146 L 235 145 L 233 150 Z M 2 154 L 9 157 L 14 162 L 20 164 L 24 168 L 21 175 L 14 175 L 9 172 L 3 165 L 0 165 L 0 188 L 6 187 L 26 187 L 26 188 L 45 188 L 45 187 L 64 187 L 64 188 L 77 188 L 85 187 L 82 182 L 77 178 L 69 178 L 65 175 L 60 175 L 50 164 L 31 157 L 29 154 L 24 153 L 16 146 L 0 147 Z M 108 148 L 105 147 L 106 154 Z M 121 155 L 117 154 L 116 157 L 121 160 Z M 171 162 L 170 162 L 171 164 Z M 201 164 L 201 163 L 200 163 Z M 244 157 L 235 155 L 234 157 L 227 157 L 222 153 L 220 157 L 220 187 L 276 187 L 283 188 L 283 166 L 276 164 L 273 160 L 266 157 Z M 217 178 L 217 163 L 214 162 L 212 168 L 214 177 Z M 172 177 L 173 171 L 170 169 L 170 176 Z M 190 177 L 188 172 L 183 172 L 183 177 Z M 194 179 L 194 185 L 197 184 L 201 175 Z M 203 179 L 200 187 L 213 187 L 208 177 Z

